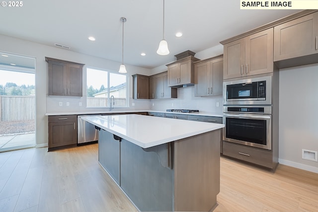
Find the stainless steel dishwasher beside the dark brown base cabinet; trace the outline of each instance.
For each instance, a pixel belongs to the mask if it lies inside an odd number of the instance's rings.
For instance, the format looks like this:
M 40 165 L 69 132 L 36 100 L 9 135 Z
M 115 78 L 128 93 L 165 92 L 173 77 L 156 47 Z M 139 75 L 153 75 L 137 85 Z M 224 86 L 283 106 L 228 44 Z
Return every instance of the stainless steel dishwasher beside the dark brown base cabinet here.
M 95 126 L 80 117 L 83 116 L 98 116 L 100 114 L 92 115 L 78 115 L 78 145 L 93 143 L 98 141 L 98 130 Z

